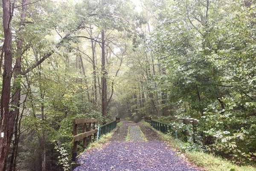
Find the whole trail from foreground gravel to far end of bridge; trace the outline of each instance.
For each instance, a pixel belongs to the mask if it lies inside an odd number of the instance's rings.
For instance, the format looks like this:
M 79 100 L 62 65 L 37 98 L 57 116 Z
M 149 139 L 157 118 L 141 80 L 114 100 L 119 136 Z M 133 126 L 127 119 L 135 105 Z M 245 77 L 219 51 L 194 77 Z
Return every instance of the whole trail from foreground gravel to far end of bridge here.
M 82 154 L 74 171 L 200 171 L 177 156 L 149 126 L 123 121 L 102 149 Z M 125 142 L 130 126 L 130 142 Z M 147 137 L 143 141 L 140 129 Z

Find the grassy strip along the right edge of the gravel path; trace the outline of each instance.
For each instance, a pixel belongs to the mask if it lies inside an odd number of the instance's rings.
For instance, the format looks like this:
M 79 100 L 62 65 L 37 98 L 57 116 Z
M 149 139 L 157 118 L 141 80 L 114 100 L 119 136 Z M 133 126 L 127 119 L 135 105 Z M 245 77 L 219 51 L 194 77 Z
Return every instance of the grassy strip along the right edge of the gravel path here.
M 253 166 L 239 166 L 228 160 L 215 157 L 212 154 L 200 151 L 184 151 L 183 147 L 188 146 L 188 143 L 177 140 L 169 134 L 163 134 L 160 131 L 157 132 L 169 145 L 176 148 L 178 151 L 182 151 L 190 162 L 203 167 L 206 171 L 256 171 L 256 168 Z

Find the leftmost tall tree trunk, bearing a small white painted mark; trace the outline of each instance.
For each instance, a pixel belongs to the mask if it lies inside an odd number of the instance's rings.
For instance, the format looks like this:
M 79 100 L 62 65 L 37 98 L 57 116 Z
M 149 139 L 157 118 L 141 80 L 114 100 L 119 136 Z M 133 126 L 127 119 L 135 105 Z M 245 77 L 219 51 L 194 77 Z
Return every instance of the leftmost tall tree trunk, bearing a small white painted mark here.
M 2 0 L 3 3 L 3 30 L 4 30 L 4 67 L 3 85 L 0 107 L 0 171 L 4 171 L 7 155 L 7 131 L 9 124 L 9 101 L 12 79 L 12 31 L 11 31 L 11 2 Z M 3 136 L 2 136 L 3 135 Z

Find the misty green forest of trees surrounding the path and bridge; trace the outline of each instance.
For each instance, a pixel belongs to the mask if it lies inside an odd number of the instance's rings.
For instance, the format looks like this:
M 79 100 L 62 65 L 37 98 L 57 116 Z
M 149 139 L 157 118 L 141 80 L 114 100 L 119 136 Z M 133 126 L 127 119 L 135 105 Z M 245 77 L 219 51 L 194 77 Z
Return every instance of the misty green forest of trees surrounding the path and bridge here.
M 255 0 L 0 5 L 0 170 L 67 171 L 73 119 L 115 117 L 196 120 L 185 150 L 255 165 Z

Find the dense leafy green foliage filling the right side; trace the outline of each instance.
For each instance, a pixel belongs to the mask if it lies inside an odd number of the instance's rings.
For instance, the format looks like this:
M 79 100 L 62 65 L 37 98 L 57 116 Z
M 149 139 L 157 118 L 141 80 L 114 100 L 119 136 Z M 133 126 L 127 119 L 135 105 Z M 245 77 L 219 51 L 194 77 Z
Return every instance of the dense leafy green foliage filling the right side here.
M 160 91 L 175 106 L 163 122 L 192 133 L 191 124 L 179 119 L 197 119 L 198 143 L 205 150 L 240 164 L 255 162 L 255 4 L 164 4 L 168 8 L 160 10 L 148 41 L 165 69 L 157 77 Z

